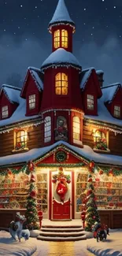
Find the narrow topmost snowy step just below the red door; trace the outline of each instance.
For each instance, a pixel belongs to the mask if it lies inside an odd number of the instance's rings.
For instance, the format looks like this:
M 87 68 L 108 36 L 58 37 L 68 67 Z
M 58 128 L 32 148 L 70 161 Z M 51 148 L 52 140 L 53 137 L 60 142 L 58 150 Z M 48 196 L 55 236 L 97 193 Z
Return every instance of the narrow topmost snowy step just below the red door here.
M 82 227 L 80 227 L 80 228 L 70 228 L 70 227 L 68 227 L 68 228 L 65 228 L 65 227 L 63 227 L 63 228 L 41 228 L 41 231 L 43 231 L 43 232 L 74 232 L 74 230 L 75 230 L 75 232 L 81 232 L 81 231 L 83 231 L 83 228 Z

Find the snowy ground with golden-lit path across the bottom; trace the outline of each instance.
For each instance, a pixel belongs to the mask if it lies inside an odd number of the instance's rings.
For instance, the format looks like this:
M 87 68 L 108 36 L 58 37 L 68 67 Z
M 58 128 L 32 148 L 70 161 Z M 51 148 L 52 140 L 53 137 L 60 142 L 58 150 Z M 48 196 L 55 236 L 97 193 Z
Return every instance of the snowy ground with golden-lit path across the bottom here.
M 88 256 L 94 253 L 98 256 L 122 256 L 122 229 L 110 230 L 110 236 L 105 242 L 97 243 L 89 232 L 87 232 L 87 238 L 89 239 L 78 242 L 44 242 L 35 238 L 15 242 L 9 232 L 0 231 L 0 255 Z

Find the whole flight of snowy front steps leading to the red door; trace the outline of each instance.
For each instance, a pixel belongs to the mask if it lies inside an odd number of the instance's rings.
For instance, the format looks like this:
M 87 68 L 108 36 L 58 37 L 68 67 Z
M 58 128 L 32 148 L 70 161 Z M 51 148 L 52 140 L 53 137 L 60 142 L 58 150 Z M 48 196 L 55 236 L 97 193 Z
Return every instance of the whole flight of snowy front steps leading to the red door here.
M 37 239 L 44 241 L 79 241 L 87 239 L 79 225 L 42 225 Z

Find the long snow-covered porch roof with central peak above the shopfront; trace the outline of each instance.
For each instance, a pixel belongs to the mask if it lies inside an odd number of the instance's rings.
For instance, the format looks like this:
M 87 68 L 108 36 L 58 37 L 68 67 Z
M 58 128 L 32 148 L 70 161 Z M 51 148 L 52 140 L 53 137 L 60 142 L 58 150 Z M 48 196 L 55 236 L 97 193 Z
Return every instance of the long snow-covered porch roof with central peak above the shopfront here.
M 41 158 L 44 154 L 49 152 L 50 150 L 54 150 L 54 148 L 58 146 L 65 146 L 68 147 L 69 150 L 79 154 L 81 157 L 84 157 L 88 161 L 93 160 L 95 163 L 98 164 L 108 164 L 108 165 L 122 165 L 122 157 L 112 155 L 112 154 L 98 154 L 95 153 L 91 147 L 84 146 L 83 148 L 72 146 L 64 141 L 58 141 L 51 146 L 42 147 L 42 148 L 35 148 L 29 150 L 25 153 L 20 153 L 15 155 L 9 155 L 6 157 L 0 158 L 0 165 L 12 165 L 22 162 L 27 162 L 31 160 L 36 160 L 37 158 Z

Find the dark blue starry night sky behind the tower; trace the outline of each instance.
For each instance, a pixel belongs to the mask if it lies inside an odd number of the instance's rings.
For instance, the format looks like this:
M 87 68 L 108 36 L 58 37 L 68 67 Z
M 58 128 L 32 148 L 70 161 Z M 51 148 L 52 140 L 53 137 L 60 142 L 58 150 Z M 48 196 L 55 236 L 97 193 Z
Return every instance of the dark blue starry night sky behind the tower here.
M 122 0 L 65 4 L 76 23 L 73 54 L 83 69 L 102 69 L 104 85 L 122 83 Z M 0 0 L 0 85 L 21 87 L 28 66 L 40 68 L 49 56 L 47 28 L 56 6 L 57 0 Z

